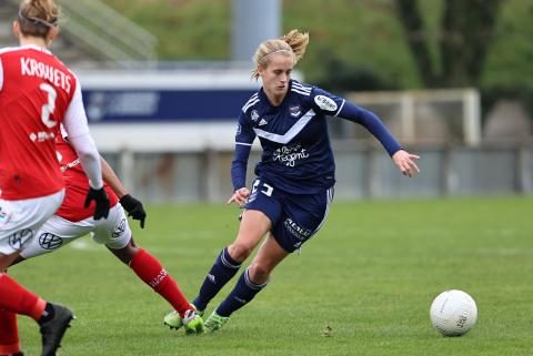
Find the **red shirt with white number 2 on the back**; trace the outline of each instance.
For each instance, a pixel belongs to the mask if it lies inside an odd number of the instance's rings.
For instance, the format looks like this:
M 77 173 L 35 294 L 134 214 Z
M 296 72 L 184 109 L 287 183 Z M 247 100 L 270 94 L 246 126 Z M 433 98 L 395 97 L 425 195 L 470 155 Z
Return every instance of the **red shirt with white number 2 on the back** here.
M 32 199 L 64 186 L 54 141 L 77 85 L 43 48 L 0 49 L 0 197 Z

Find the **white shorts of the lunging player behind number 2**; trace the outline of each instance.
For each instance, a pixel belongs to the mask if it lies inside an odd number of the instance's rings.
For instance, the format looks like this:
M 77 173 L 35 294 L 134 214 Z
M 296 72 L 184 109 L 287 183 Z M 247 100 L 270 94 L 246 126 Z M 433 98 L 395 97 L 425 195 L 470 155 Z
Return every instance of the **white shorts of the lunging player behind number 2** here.
M 131 230 L 122 205 L 119 203 L 111 207 L 108 218 L 101 220 L 88 217 L 71 222 L 53 215 L 42 225 L 36 238 L 24 246 L 20 255 L 24 258 L 42 255 L 87 234 L 91 234 L 95 243 L 104 244 L 109 248 L 125 247 L 131 240 Z

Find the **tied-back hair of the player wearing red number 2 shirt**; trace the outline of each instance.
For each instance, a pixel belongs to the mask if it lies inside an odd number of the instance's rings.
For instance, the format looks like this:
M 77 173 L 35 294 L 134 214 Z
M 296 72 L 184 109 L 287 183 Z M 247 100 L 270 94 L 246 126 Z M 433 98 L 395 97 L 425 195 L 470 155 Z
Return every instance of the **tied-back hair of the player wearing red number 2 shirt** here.
M 19 7 L 20 31 L 23 35 L 47 38 L 58 24 L 60 8 L 53 0 L 23 0 Z

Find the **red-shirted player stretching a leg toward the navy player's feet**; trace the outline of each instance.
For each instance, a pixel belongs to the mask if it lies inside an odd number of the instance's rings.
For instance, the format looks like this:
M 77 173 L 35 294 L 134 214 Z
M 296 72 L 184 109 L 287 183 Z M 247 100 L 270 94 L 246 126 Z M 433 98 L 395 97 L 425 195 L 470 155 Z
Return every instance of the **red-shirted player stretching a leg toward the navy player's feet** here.
M 180 317 L 184 318 L 188 334 L 203 333 L 202 318 L 197 315 L 172 276 L 155 257 L 139 248 L 133 241 L 124 210 L 132 218 L 140 221 L 141 227 L 144 227 L 147 214 L 142 203 L 128 194 L 114 171 L 102 159 L 103 186 L 111 201 L 111 208 L 108 218 L 95 221 L 91 211 L 82 207 L 89 183 L 68 139 L 59 136 L 57 150 L 67 183 L 63 203 L 39 230 L 36 238 L 24 246 L 16 263 L 57 251 L 77 238 L 91 234 L 97 243 L 104 244 L 113 255 L 130 266 L 141 281 L 174 307 Z M 2 327 L 0 323 L 0 334 L 9 332 L 14 334 L 13 326 Z

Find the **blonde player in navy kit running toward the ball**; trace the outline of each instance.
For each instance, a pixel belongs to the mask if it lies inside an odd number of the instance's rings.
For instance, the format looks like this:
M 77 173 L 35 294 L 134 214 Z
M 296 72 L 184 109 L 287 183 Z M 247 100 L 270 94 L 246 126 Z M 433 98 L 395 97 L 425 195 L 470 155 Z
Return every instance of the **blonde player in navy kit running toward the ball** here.
M 268 233 L 251 265 L 233 291 L 205 321 L 205 329 L 222 327 L 230 315 L 266 286 L 274 267 L 300 248 L 324 223 L 333 199 L 335 164 L 328 136 L 328 116 L 339 116 L 369 130 L 404 175 L 419 172 L 419 156 L 405 152 L 381 120 L 320 88 L 291 79 L 294 64 L 309 43 L 308 33 L 292 30 L 282 39 L 266 40 L 255 51 L 263 87 L 242 106 L 231 166 L 234 193 L 228 201 L 244 205 L 235 241 L 222 250 L 192 302 L 199 313 L 238 272 Z M 259 136 L 261 162 L 251 191 L 245 173 L 252 142 Z M 179 326 L 178 315 L 165 323 Z

